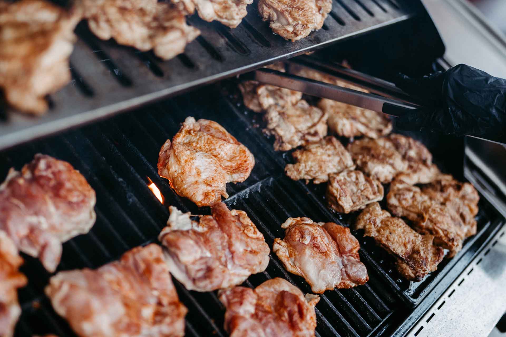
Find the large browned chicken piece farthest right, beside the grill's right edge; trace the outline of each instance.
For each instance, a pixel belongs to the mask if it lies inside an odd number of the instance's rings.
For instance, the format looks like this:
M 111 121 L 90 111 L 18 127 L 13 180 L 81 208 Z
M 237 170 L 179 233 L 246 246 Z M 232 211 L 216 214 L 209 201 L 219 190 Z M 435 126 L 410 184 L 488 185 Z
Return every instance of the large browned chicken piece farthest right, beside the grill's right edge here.
M 471 184 L 445 176 L 436 178 L 424 190 L 415 183 L 419 181 L 409 174 L 399 174 L 392 181 L 387 195 L 389 210 L 411 220 L 419 233 L 434 235 L 434 243 L 450 251 L 447 257 L 453 257 L 463 240 L 476 233 L 478 192 Z

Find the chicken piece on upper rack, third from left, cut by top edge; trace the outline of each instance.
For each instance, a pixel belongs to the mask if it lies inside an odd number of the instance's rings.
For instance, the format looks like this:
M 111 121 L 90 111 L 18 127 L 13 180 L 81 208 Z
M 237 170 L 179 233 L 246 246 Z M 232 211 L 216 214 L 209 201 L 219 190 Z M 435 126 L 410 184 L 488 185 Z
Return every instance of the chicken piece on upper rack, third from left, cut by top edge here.
M 253 0 L 172 0 L 173 3 L 180 1 L 191 13 L 196 8 L 202 20 L 207 22 L 216 20 L 230 28 L 235 28 L 241 23 L 247 14 L 246 6 L 253 3 Z

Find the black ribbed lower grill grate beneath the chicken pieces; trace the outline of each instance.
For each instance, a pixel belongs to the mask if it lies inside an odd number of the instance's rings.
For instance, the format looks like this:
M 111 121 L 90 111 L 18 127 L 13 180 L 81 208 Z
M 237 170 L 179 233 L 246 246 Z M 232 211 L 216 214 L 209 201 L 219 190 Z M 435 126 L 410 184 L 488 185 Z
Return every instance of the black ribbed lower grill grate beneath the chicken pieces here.
M 201 99 L 195 100 L 195 97 Z M 228 184 L 230 198 L 226 203 L 229 207 L 244 210 L 270 247 L 275 237 L 284 236 L 280 224 L 289 216 L 349 224 L 350 217 L 338 216 L 326 208 L 320 190 L 284 176 L 283 168 L 290 156 L 275 153 L 272 139 L 265 138 L 261 129 L 254 126 L 259 123 L 260 115 L 251 115 L 238 104 L 237 97 L 222 86 L 213 85 L 135 113 L 0 153 L 2 176 L 7 174 L 9 167 L 19 168 L 36 152 L 43 152 L 70 162 L 97 191 L 97 222 L 89 234 L 77 236 L 63 245 L 59 270 L 97 268 L 116 260 L 130 248 L 156 241 L 168 217 L 169 205 L 194 214 L 208 211 L 207 208 L 199 210 L 190 201 L 178 197 L 167 181 L 156 173 L 159 148 L 179 130 L 180 123 L 187 116 L 219 122 L 255 155 L 256 165 L 251 176 L 243 183 Z M 147 177 L 160 189 L 165 198 L 164 205 L 147 188 Z M 392 259 L 375 245 L 364 244 L 359 234 L 361 260 L 369 272 L 369 281 L 348 290 L 327 291 L 322 296 L 316 306 L 317 335 L 390 335 L 414 310 L 420 310 L 422 306 L 418 305 L 417 309 L 412 306 L 419 304 L 436 282 L 449 274 L 453 275 L 449 277 L 456 277 L 466 267 L 465 262 L 472 258 L 470 252 L 483 243 L 483 236 L 488 235 L 485 228 L 492 227 L 488 220 L 498 217 L 485 202 L 482 202 L 480 212 L 479 234 L 466 243 L 465 253 L 459 255 L 460 265 L 453 267 L 457 259 L 445 262 L 446 265 L 442 264 L 437 272 L 419 283 L 398 281 Z M 477 238 L 480 238 L 478 242 Z M 26 256 L 22 271 L 28 276 L 29 284 L 19 291 L 23 312 L 16 335 L 47 332 L 73 335 L 44 295 L 50 275 L 38 261 Z M 303 278 L 287 273 L 272 254 L 267 270 L 250 276 L 245 285 L 257 286 L 276 276 L 289 280 L 305 293 L 310 292 Z M 192 292 L 177 281 L 175 284 L 181 301 L 189 309 L 186 335 L 226 336 L 224 308 L 216 292 Z

